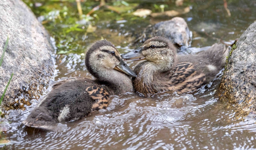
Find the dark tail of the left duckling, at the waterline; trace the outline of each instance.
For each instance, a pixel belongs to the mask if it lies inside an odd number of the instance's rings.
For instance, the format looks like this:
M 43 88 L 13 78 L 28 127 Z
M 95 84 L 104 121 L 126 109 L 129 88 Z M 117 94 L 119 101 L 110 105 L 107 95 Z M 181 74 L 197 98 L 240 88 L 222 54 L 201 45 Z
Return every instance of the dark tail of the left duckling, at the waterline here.
M 57 121 L 52 117 L 51 112 L 44 108 L 35 108 L 32 110 L 31 114 L 29 114 L 27 119 L 22 122 L 22 124 L 25 124 L 28 127 L 46 130 L 52 130 L 53 125 L 56 123 Z

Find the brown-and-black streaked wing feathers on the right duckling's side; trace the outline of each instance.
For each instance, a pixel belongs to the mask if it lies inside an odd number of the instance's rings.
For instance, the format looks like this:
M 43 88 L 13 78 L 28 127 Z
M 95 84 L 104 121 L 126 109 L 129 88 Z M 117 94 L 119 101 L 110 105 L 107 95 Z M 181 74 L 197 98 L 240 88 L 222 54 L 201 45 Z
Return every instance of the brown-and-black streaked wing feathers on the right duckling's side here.
M 197 74 L 193 64 L 183 62 L 176 64 L 172 70 L 168 89 L 178 93 L 187 93 L 202 86 L 205 80 L 205 75 Z

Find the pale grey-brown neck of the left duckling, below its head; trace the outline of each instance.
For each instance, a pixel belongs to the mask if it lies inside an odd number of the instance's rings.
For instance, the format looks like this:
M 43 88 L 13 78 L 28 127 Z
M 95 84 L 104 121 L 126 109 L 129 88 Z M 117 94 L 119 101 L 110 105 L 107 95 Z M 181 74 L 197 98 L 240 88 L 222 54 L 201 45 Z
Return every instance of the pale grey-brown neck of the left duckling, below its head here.
M 133 91 L 132 80 L 129 76 L 114 69 L 101 70 L 94 74 L 101 85 L 105 85 L 109 94 L 122 94 Z

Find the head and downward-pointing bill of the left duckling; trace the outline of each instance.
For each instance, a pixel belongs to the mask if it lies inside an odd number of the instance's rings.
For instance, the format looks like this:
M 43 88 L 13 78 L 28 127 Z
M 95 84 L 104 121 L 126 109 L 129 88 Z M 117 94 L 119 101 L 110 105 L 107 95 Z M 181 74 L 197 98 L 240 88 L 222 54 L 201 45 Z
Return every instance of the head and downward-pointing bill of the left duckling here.
M 85 56 L 85 65 L 94 77 L 104 81 L 115 76 L 118 78 L 124 73 L 136 77 L 136 73 L 123 62 L 116 47 L 107 40 L 96 41 L 89 47 Z

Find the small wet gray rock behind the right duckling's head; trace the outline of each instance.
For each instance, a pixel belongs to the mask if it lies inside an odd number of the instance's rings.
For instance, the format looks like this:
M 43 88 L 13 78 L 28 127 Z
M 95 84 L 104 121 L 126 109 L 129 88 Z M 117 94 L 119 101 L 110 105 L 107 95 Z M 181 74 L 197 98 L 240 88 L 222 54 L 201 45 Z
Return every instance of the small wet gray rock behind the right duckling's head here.
M 139 46 L 154 36 L 164 36 L 173 41 L 178 47 L 182 47 L 181 49 L 186 49 L 190 45 L 188 24 L 180 17 L 147 26 L 142 33 L 135 35 L 134 44 Z

